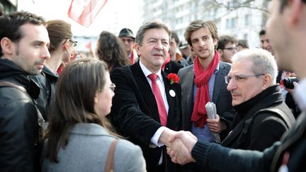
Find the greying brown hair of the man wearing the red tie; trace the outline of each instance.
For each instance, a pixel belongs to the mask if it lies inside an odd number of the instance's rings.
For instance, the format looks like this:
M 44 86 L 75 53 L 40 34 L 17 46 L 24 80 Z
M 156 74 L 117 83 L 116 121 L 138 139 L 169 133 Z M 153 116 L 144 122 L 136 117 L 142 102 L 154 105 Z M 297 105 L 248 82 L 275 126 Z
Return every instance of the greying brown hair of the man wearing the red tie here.
M 159 21 L 159 20 L 149 21 L 149 22 L 141 25 L 140 28 L 137 31 L 135 42 L 137 44 L 139 44 L 139 45 L 142 45 L 142 40 L 143 40 L 143 38 L 145 36 L 145 32 L 147 30 L 149 30 L 149 29 L 152 29 L 152 28 L 166 30 L 166 32 L 169 35 L 169 42 L 170 42 L 170 39 L 171 39 L 171 30 L 170 30 L 170 28 L 169 28 L 168 25 L 166 25 L 166 23 L 163 23 L 162 21 Z

